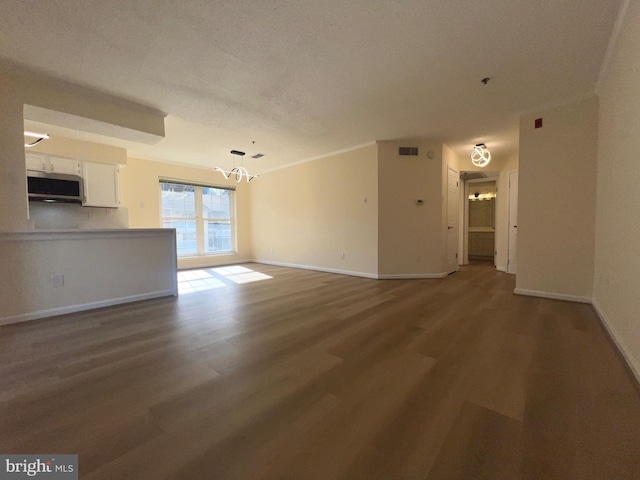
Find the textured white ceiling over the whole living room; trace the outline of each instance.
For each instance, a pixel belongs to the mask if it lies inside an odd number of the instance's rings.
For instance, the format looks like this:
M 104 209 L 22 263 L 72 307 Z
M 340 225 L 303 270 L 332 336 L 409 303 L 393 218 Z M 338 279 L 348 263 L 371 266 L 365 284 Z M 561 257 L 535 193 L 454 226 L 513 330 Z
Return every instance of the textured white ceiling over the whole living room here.
M 620 3 L 2 0 L 0 57 L 166 112 L 157 145 L 102 139 L 133 156 L 235 148 L 262 172 L 411 138 L 500 155 L 521 113 L 594 91 Z

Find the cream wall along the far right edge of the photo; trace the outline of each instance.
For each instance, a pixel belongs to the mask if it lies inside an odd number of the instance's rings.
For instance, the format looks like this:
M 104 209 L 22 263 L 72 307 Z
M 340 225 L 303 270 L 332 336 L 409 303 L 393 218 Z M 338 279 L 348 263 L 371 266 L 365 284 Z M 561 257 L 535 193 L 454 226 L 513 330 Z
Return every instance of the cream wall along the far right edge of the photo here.
M 640 3 L 621 20 L 598 91 L 593 301 L 640 379 Z

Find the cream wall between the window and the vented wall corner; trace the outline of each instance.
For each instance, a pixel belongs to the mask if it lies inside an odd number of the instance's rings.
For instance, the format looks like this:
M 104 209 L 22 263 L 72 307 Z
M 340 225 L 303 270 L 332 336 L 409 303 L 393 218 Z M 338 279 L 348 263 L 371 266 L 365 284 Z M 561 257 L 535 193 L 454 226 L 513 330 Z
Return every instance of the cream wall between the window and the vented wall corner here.
M 377 182 L 377 145 L 261 175 L 250 184 L 254 258 L 375 276 Z

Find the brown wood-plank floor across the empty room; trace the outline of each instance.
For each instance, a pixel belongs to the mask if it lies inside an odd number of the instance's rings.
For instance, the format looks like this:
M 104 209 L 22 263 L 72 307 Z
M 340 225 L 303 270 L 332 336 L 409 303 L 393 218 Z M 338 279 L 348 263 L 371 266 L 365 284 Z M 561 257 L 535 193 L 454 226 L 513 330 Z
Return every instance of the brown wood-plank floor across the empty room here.
M 86 479 L 640 479 L 640 395 L 588 305 L 273 278 L 0 327 L 0 453 Z

